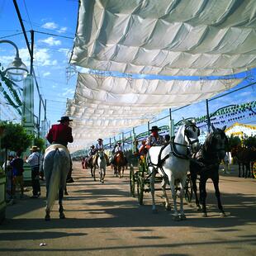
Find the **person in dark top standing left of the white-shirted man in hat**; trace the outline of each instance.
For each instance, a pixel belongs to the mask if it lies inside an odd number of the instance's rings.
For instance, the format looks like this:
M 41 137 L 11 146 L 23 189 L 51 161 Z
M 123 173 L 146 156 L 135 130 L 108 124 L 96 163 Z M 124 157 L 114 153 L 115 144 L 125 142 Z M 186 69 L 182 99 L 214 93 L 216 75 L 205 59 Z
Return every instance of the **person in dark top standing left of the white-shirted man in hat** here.
M 21 151 L 17 151 L 17 156 L 15 159 L 12 160 L 10 163 L 12 166 L 12 178 L 13 178 L 13 197 L 15 197 L 16 187 L 17 185 L 20 186 L 21 195 L 20 198 L 23 198 L 24 195 L 24 182 L 23 182 L 23 164 L 24 161 L 21 159 Z

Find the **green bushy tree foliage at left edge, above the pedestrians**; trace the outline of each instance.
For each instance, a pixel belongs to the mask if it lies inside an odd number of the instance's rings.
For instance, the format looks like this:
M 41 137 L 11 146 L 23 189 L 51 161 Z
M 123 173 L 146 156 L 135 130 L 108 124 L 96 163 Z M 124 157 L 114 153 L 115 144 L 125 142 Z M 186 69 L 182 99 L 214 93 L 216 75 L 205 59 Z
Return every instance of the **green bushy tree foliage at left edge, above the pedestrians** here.
M 28 135 L 23 126 L 4 122 L 1 127 L 4 129 L 1 139 L 2 148 L 22 152 L 31 145 L 33 135 Z

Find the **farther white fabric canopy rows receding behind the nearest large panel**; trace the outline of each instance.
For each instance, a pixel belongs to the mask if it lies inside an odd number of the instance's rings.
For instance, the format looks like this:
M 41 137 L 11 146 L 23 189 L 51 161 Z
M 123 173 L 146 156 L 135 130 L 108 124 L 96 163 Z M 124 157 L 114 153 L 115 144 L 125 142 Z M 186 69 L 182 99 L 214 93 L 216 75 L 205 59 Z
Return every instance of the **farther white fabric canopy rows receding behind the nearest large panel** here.
M 129 127 L 140 126 L 169 107 L 211 98 L 234 87 L 240 80 L 148 80 L 99 77 L 78 73 L 73 100 L 66 115 L 73 118 L 74 144 L 83 149 Z

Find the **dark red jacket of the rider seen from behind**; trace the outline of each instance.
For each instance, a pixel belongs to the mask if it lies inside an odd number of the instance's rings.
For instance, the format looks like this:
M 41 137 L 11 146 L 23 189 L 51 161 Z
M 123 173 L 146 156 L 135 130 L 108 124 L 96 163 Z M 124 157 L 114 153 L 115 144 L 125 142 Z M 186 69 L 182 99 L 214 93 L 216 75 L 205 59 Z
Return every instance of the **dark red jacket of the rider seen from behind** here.
M 46 139 L 50 144 L 57 143 L 66 147 L 68 142 L 73 142 L 72 128 L 61 123 L 59 125 L 53 125 L 51 126 L 48 135 L 46 135 Z

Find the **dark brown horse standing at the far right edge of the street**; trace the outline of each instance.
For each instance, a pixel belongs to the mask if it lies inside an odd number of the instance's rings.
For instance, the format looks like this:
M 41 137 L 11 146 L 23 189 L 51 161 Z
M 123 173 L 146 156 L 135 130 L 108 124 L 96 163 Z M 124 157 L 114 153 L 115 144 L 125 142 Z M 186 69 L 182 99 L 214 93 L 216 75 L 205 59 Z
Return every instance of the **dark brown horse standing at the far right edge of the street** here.
M 256 160 L 256 150 L 249 149 L 242 146 L 231 149 L 231 156 L 234 158 L 239 167 L 239 177 L 254 178 L 252 163 Z M 241 168 L 243 173 L 241 175 Z M 245 168 L 245 170 L 244 170 Z

